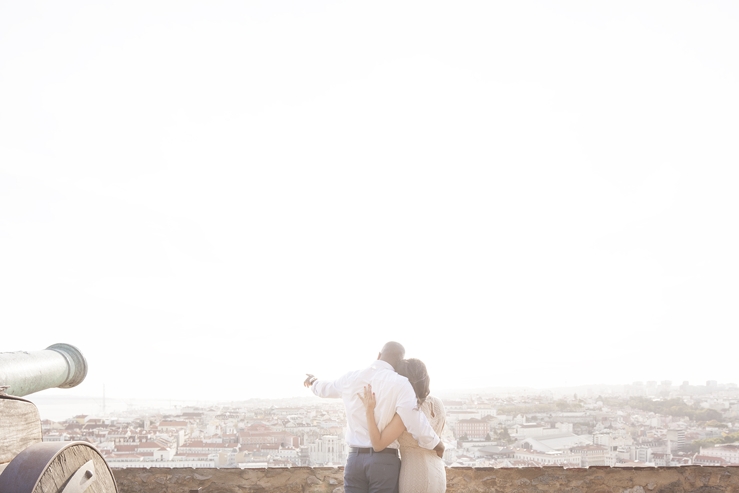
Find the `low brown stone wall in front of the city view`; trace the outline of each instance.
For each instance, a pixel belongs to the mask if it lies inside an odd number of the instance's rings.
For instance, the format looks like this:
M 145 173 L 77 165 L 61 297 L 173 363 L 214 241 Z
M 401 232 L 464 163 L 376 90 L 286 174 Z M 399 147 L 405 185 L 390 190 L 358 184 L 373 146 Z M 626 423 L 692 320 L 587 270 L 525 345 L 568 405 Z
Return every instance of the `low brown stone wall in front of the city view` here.
M 113 469 L 120 493 L 344 493 L 343 468 Z M 739 467 L 446 469 L 447 493 L 732 493 Z

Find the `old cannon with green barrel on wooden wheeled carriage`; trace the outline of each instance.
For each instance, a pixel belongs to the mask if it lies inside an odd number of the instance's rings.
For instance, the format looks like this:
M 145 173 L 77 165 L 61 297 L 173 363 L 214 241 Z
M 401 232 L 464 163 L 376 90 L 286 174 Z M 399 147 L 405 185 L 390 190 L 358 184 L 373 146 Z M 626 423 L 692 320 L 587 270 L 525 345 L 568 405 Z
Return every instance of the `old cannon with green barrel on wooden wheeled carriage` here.
M 0 493 L 116 493 L 100 451 L 85 441 L 44 442 L 41 418 L 22 396 L 75 387 L 87 361 L 71 344 L 0 353 Z

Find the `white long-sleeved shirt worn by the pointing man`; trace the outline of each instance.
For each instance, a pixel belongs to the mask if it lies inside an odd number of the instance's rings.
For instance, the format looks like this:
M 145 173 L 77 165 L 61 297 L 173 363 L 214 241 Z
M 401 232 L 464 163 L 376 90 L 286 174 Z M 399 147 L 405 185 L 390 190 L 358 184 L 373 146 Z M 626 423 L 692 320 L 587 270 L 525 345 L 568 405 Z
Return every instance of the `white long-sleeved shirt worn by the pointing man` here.
M 344 407 L 347 409 L 348 446 L 372 446 L 367 429 L 367 414 L 357 395 L 358 392 L 364 395 L 367 384 L 372 385 L 372 392 L 375 392 L 375 423 L 380 432 L 397 412 L 420 446 L 429 450 L 437 446 L 440 439 L 426 415 L 417 409 L 418 401 L 408 378 L 398 375 L 391 364 L 381 360 L 376 360 L 364 370 L 347 373 L 335 381 L 316 380 L 310 387 L 319 397 L 344 400 Z M 397 449 L 398 441 L 390 443 L 388 447 Z

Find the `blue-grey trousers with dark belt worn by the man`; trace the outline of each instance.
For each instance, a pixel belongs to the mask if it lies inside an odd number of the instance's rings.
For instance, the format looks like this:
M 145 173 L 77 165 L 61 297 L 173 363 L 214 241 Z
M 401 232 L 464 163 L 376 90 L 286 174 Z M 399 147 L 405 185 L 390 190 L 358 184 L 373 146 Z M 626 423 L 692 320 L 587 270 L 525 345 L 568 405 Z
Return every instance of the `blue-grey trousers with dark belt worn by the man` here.
M 401 459 L 393 454 L 350 452 L 344 467 L 346 493 L 398 493 Z

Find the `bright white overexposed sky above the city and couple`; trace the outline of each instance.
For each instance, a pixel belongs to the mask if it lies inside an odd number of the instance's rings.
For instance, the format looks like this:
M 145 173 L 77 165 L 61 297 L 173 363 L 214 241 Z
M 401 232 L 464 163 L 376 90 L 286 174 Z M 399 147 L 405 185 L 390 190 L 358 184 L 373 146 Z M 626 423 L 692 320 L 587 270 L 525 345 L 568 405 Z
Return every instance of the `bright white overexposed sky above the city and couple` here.
M 0 350 L 69 395 L 739 382 L 735 1 L 3 2 Z

